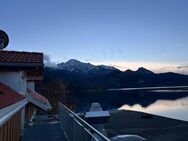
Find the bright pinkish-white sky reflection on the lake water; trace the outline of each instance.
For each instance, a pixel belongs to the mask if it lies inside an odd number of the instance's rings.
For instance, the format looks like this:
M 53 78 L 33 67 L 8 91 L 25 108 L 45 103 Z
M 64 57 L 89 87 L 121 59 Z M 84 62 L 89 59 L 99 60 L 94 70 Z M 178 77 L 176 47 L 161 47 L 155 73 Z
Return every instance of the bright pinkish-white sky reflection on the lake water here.
M 148 107 L 142 107 L 140 104 L 133 106 L 125 104 L 120 109 L 141 111 L 188 121 L 188 96 L 177 100 L 157 100 Z

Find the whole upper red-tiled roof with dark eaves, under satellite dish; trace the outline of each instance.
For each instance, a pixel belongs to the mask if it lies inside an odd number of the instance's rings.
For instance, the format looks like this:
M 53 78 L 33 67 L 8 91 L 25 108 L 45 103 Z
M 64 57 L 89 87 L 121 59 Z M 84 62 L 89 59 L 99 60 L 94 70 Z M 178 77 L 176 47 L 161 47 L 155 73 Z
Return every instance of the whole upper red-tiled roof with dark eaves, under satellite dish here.
M 20 71 L 27 73 L 28 80 L 43 79 L 43 53 L 0 51 L 0 71 Z

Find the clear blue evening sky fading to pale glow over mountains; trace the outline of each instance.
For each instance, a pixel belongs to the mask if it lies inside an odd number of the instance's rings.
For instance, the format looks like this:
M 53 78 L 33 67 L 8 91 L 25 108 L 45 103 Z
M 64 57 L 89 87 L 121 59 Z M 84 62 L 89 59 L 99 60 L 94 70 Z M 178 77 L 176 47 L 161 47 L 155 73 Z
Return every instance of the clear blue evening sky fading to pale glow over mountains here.
M 188 74 L 187 0 L 0 0 L 7 50 Z M 49 64 L 50 64 L 49 63 Z

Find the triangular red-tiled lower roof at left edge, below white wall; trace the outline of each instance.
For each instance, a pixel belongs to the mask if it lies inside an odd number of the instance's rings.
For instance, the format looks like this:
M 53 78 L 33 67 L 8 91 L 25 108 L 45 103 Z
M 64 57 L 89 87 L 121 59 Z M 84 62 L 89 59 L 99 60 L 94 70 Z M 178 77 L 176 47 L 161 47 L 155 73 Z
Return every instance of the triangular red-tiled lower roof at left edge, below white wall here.
M 5 84 L 0 83 L 0 109 L 8 107 L 23 99 L 25 99 L 24 96 L 12 90 Z

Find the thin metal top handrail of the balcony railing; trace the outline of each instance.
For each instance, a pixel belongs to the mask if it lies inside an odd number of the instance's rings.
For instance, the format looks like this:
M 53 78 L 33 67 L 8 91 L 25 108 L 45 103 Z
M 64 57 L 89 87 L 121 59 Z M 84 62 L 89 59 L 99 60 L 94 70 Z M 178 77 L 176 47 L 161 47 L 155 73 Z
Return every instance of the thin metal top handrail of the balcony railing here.
M 84 121 L 82 118 L 80 118 L 78 115 L 76 115 L 74 112 L 72 112 L 70 109 L 68 109 L 66 106 L 64 106 L 61 102 L 59 102 L 59 106 L 61 106 L 63 109 L 65 109 L 69 114 L 71 114 L 75 119 L 79 120 L 81 124 L 83 124 L 84 127 L 89 128 L 94 133 L 96 133 L 101 139 L 104 141 L 111 141 L 106 136 L 104 136 L 102 133 L 100 133 L 98 130 L 96 130 L 94 127 L 89 125 L 86 121 Z

